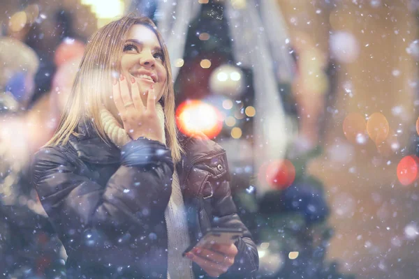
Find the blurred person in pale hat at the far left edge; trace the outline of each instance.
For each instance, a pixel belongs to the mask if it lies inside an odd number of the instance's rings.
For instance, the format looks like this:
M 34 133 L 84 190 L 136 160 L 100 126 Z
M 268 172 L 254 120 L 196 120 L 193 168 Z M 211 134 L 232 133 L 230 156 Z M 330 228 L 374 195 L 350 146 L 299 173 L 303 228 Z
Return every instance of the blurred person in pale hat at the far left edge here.
M 19 40 L 0 38 L 0 65 L 0 272 L 6 278 L 60 276 L 61 243 L 28 176 L 26 110 L 38 56 Z

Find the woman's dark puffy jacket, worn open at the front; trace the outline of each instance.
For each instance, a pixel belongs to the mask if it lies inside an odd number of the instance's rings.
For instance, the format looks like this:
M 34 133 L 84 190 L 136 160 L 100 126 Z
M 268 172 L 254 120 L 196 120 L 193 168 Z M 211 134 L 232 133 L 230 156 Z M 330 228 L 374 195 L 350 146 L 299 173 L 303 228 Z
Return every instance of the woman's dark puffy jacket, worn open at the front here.
M 170 151 L 145 138 L 117 149 L 80 124 L 64 146 L 34 157 L 33 181 L 61 239 L 68 278 L 166 278 L 164 211 L 174 170 Z M 230 195 L 226 153 L 210 140 L 182 137 L 176 165 L 191 241 L 210 227 L 244 229 L 235 264 L 224 275 L 251 278 L 258 252 Z M 193 264 L 199 278 L 205 272 Z

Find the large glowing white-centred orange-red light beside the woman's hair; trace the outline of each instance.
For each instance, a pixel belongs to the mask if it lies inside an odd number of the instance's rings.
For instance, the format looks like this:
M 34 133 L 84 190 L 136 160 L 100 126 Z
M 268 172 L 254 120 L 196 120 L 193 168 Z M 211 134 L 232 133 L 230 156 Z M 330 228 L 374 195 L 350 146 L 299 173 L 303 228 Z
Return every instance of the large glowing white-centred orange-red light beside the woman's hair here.
M 186 100 L 177 107 L 176 123 L 185 135 L 204 133 L 212 139 L 223 128 L 223 116 L 213 105 L 201 100 Z

